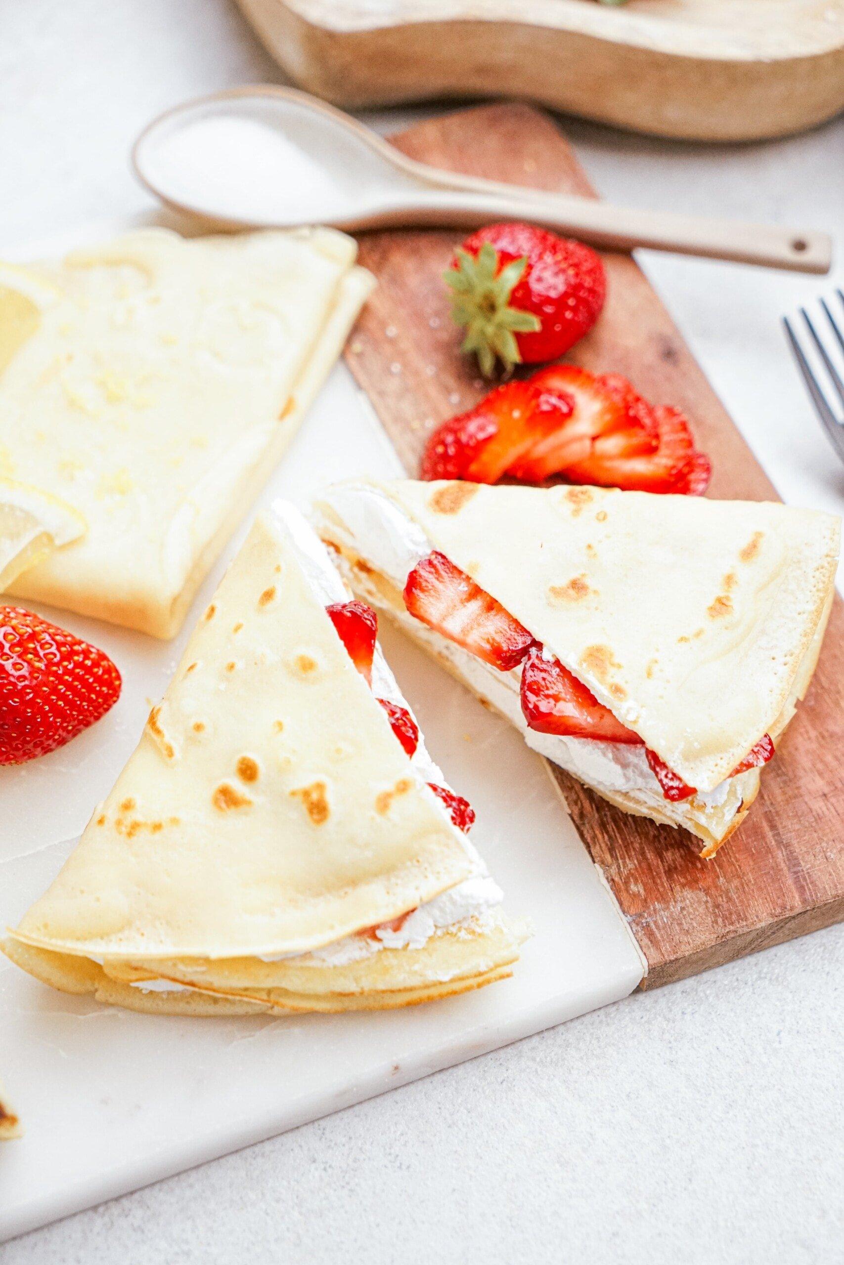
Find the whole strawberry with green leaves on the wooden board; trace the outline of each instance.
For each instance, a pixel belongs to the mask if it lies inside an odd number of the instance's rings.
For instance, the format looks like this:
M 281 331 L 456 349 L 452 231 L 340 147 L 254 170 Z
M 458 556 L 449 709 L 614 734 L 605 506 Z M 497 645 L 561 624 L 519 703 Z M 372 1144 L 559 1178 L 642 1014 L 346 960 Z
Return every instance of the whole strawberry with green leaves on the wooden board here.
M 445 281 L 452 314 L 466 326 L 464 352 L 481 372 L 496 362 L 555 361 L 592 328 L 606 297 L 600 257 L 531 224 L 490 224 L 456 252 Z

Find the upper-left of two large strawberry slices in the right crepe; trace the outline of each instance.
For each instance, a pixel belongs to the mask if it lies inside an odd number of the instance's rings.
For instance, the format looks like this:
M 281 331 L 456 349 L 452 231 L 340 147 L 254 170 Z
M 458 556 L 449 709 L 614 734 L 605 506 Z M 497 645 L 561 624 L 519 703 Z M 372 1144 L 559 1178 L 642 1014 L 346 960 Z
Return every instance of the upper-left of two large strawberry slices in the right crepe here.
M 414 567 L 404 598 L 415 619 L 501 672 L 518 667 L 533 645 L 528 629 L 445 554 L 434 552 Z

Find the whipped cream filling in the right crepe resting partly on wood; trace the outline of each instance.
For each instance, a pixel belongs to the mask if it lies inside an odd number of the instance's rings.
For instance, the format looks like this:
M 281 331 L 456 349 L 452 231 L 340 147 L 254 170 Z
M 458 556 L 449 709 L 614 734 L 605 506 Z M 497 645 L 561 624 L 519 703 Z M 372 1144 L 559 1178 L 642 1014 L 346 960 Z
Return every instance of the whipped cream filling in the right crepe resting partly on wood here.
M 435 545 L 429 540 L 419 524 L 391 501 L 383 492 L 364 483 L 342 483 L 321 495 L 344 525 L 348 544 L 363 557 L 376 571 L 381 572 L 399 591 L 404 589 L 409 573 L 425 558 Z M 332 531 L 335 524 L 332 522 Z M 644 793 L 654 797 L 663 811 L 673 816 L 672 810 L 683 805 L 698 802 L 710 807 L 725 805 L 730 796 L 730 781 L 726 778 L 712 791 L 698 791 L 693 801 L 672 805 L 662 793 L 662 787 L 648 764 L 644 748 L 625 743 L 602 743 L 592 737 L 564 737 L 555 734 L 538 734 L 529 729 L 521 712 L 520 687 L 521 667 L 511 672 L 500 672 L 483 663 L 476 655 L 456 645 L 447 638 L 429 630 L 419 620 L 404 611 L 391 614 L 413 631 L 413 635 L 428 641 L 437 654 L 454 665 L 454 670 L 488 700 L 516 726 L 528 746 L 540 755 L 559 764 L 581 782 L 599 791 L 615 793 Z M 548 653 L 548 651 L 544 651 Z M 553 658 L 553 655 L 549 655 Z M 740 796 L 735 796 L 734 811 L 740 806 Z

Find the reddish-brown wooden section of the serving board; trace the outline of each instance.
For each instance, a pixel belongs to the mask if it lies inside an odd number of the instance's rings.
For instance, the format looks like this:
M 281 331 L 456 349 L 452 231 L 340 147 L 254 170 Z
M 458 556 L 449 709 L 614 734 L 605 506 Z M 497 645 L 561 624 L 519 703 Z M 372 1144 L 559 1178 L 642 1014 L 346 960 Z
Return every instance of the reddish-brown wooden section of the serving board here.
M 464 110 L 394 138 L 413 158 L 492 180 L 595 196 L 548 115 L 528 105 Z M 366 235 L 361 262 L 378 278 L 347 347 L 413 477 L 430 430 L 485 393 L 459 354 L 442 273 L 450 231 Z M 609 299 L 571 359 L 629 377 L 692 419 L 711 455 L 709 495 L 777 493 L 630 256 L 605 254 Z M 620 812 L 562 770 L 572 817 L 648 960 L 643 987 L 731 961 L 844 918 L 844 608 L 836 597 L 809 697 L 788 726 L 744 825 L 710 860 L 685 831 Z

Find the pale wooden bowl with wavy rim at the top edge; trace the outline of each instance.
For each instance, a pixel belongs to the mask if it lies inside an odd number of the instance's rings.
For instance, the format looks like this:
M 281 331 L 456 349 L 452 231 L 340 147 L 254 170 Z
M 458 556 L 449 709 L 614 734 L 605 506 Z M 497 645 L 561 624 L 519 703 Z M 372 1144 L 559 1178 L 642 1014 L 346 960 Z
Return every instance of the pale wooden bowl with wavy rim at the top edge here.
M 757 140 L 844 109 L 844 0 L 238 0 L 344 108 L 518 96 L 634 132 Z

